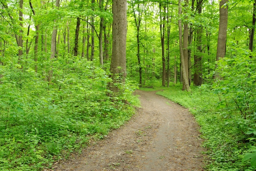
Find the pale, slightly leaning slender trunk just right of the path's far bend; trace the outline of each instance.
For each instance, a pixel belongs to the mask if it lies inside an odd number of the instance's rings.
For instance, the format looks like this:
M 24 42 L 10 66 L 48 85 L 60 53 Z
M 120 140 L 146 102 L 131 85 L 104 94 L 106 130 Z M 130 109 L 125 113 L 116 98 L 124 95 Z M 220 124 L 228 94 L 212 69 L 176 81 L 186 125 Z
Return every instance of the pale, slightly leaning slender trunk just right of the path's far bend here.
M 179 17 L 181 17 L 182 15 L 182 0 L 179 0 Z M 188 2 L 188 1 L 187 1 Z M 187 24 L 184 24 L 184 29 L 186 29 L 186 31 L 184 30 L 184 37 L 185 35 L 188 38 L 188 27 L 186 26 Z M 183 87 L 182 90 L 186 90 L 186 91 L 191 91 L 190 87 L 189 87 L 189 78 L 188 78 L 188 65 L 187 62 L 185 62 L 187 60 L 187 56 L 184 56 L 184 52 L 187 52 L 186 50 L 183 50 L 184 47 L 186 47 L 186 44 L 188 44 L 188 42 L 185 42 L 185 46 L 184 46 L 184 42 L 182 44 L 182 21 L 181 19 L 178 20 L 178 27 L 179 27 L 179 46 L 180 46 L 180 60 L 181 60 L 181 72 L 182 72 L 182 83 L 183 83 Z M 184 38 L 184 41 L 187 41 L 187 38 Z

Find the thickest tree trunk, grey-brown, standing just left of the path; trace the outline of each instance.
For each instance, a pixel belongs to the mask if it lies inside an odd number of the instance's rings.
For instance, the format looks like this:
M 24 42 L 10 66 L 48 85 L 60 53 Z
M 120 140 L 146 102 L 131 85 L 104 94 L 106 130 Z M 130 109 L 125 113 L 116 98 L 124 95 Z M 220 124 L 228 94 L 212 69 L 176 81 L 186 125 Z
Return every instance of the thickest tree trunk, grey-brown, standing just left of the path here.
M 118 83 L 124 84 L 126 79 L 126 0 L 113 0 L 113 26 L 112 26 L 112 59 L 110 64 L 111 78 L 109 88 L 119 92 Z

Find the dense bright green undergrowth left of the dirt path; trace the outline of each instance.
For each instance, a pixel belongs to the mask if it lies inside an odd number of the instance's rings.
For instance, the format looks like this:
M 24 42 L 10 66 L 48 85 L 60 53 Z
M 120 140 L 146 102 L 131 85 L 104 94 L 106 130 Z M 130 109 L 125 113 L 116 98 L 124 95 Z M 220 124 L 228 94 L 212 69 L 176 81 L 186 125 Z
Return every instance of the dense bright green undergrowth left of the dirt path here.
M 51 166 L 85 147 L 90 138 L 103 138 L 134 113 L 138 100 L 131 93 L 136 86 L 127 82 L 112 96 L 108 73 L 93 62 L 52 60 L 51 65 L 50 81 L 43 71 L 29 67 L 0 67 L 0 170 Z

